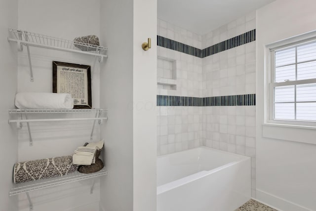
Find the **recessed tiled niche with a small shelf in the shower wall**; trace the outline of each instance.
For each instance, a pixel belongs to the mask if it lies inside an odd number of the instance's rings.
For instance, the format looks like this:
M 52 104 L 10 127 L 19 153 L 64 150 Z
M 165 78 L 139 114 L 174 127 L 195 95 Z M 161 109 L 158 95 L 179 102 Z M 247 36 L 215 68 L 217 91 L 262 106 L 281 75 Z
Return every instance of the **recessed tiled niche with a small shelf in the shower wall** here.
M 177 89 L 177 63 L 174 59 L 158 56 L 157 84 L 158 89 Z

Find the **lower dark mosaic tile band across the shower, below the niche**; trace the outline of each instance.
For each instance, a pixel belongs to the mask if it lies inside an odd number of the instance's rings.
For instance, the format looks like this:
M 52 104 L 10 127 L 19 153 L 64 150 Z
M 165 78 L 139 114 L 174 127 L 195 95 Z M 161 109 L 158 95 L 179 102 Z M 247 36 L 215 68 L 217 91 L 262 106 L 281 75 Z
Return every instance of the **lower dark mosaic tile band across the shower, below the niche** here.
M 256 94 L 215 97 L 157 95 L 157 106 L 254 106 Z

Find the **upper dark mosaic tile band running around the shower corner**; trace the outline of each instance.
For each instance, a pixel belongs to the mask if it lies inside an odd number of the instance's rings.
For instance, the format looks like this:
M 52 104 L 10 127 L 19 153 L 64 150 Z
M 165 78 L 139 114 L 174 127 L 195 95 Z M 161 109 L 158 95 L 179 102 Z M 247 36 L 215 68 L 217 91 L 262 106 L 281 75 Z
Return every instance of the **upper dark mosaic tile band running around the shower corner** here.
M 182 42 L 177 42 L 157 35 L 157 45 L 171 50 L 176 50 L 199 58 L 204 58 L 231 48 L 243 45 L 256 40 L 256 29 L 238 35 L 234 38 L 219 42 L 204 49 L 199 49 Z

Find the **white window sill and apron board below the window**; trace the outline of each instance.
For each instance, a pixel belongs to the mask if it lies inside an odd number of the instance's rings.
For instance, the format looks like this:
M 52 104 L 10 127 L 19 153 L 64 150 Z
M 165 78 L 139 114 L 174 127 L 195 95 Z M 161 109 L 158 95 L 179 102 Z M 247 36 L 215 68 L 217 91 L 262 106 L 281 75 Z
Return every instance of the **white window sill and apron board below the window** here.
M 265 138 L 316 144 L 316 127 L 264 123 L 262 124 L 262 136 Z

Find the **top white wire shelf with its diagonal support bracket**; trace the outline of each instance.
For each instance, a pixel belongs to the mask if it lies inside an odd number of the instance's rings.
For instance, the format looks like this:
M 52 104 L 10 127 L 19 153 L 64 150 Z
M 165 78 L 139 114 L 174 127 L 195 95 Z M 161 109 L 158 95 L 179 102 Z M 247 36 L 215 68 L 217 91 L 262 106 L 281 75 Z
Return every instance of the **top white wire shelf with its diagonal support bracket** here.
M 108 55 L 106 55 L 106 51 L 108 50 L 108 48 L 104 46 L 93 45 L 84 42 L 69 41 L 65 39 L 55 38 L 47 35 L 40 35 L 33 32 L 11 28 L 9 28 L 8 42 L 17 42 L 18 51 L 23 51 L 23 45 L 27 47 L 31 82 L 34 81 L 34 77 L 29 46 L 95 56 L 94 63 L 96 61 L 96 58 L 99 58 L 99 62 L 103 62 L 104 58 L 108 58 Z M 79 47 L 85 48 L 87 51 L 82 51 Z

